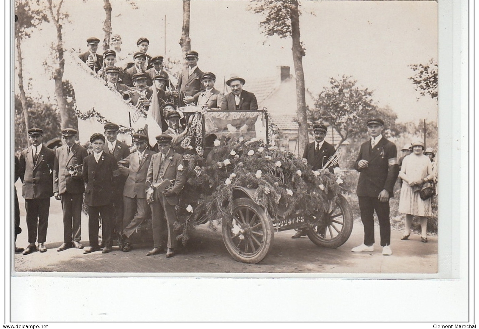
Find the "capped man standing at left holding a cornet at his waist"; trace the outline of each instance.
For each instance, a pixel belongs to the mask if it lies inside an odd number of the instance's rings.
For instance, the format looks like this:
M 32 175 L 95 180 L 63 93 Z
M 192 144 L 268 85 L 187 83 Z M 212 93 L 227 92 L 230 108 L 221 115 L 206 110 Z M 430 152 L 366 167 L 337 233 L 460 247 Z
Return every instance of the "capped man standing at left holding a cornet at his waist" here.
M 83 248 L 81 240 L 81 206 L 85 182 L 81 176 L 83 159 L 87 150 L 75 142 L 78 131 L 66 128 L 61 131 L 64 144 L 55 150 L 53 165 L 53 195 L 61 200 L 63 210 L 63 243 L 57 251 L 71 247 Z

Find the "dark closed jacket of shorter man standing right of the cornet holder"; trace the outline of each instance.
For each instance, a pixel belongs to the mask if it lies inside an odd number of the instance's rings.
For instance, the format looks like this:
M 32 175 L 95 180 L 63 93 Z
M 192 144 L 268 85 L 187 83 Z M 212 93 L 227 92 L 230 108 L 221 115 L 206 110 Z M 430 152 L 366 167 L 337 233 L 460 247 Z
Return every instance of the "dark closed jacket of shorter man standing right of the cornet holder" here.
M 83 180 L 85 188 L 85 203 L 88 206 L 104 206 L 112 203 L 114 193 L 114 171 L 118 170 L 113 155 L 103 152 L 96 163 L 93 154 L 83 159 Z

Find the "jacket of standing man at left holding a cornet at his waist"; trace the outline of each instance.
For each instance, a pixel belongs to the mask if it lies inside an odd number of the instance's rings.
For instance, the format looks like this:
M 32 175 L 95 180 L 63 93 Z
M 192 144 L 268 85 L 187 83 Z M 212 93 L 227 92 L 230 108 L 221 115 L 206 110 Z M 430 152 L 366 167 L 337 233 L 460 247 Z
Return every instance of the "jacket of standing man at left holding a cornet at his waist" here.
M 83 146 L 75 143 L 71 147 L 70 154 L 67 153 L 67 145 L 60 146 L 55 150 L 53 193 L 83 193 L 85 191 L 83 178 L 81 175 L 72 177 L 68 173 L 68 166 L 83 164 L 83 159 L 88 156 L 88 151 Z

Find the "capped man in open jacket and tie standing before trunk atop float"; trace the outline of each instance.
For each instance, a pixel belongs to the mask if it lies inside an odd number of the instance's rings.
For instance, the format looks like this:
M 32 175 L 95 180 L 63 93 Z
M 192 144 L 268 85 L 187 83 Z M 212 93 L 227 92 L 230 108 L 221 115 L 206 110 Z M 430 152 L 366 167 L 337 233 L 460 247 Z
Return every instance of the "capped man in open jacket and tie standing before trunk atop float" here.
M 180 74 L 178 79 L 180 107 L 195 105 L 201 92 L 201 77 L 203 72 L 198 68 L 198 53 L 194 50 L 185 54 L 188 69 Z

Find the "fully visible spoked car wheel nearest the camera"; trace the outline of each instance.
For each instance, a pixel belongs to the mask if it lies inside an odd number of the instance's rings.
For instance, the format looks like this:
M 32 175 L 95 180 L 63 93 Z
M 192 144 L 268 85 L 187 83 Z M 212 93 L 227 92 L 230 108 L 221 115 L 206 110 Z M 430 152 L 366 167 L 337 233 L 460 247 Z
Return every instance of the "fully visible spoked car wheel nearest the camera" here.
M 230 218 L 223 218 L 223 241 L 229 254 L 243 263 L 256 264 L 273 243 L 273 222 L 264 210 L 249 198 L 233 201 Z

